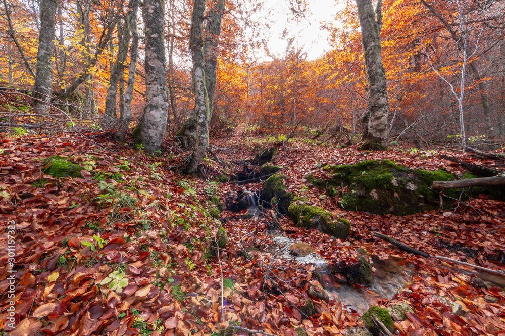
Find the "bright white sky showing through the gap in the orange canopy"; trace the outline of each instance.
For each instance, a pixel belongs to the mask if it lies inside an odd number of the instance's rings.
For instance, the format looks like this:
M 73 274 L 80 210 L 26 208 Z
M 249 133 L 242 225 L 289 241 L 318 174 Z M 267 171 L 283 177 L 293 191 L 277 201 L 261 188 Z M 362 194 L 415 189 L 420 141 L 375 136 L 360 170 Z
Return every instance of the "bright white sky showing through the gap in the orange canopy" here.
M 325 51 L 330 50 L 329 34 L 320 27 L 323 21 L 335 21 L 338 10 L 336 3 L 336 0 L 309 0 L 311 13 L 307 13 L 305 18 L 295 23 L 292 22 L 293 15 L 289 10 L 288 0 L 272 2 L 274 25 L 270 31 L 269 49 L 275 54 L 284 54 L 287 41 L 281 37 L 283 30 L 288 28 L 288 37 L 297 37 L 298 46 L 307 52 L 308 59 L 313 60 L 323 55 Z

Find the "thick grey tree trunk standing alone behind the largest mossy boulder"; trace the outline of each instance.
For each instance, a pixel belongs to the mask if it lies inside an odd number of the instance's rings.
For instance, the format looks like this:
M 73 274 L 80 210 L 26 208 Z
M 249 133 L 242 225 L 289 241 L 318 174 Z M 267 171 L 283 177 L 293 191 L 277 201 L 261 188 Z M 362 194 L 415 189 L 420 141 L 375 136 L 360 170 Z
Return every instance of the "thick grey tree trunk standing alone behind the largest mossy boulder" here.
M 386 72 L 382 64 L 380 31 L 382 29 L 382 1 L 376 10 L 372 0 L 356 0 L 361 26 L 361 36 L 365 66 L 367 70 L 368 132 L 363 134 L 362 149 L 384 150 L 389 143 L 388 134 L 388 99 Z M 366 118 L 364 119 L 367 122 Z

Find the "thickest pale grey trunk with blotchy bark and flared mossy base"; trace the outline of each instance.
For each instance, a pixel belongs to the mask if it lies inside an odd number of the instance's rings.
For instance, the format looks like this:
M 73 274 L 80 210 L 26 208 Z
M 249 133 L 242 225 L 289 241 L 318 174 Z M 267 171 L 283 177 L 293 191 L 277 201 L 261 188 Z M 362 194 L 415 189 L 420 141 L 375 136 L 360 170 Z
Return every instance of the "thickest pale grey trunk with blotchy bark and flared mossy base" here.
M 135 143 L 149 152 L 160 148 L 167 127 L 168 97 L 165 76 L 164 1 L 144 0 L 146 106 L 133 132 Z

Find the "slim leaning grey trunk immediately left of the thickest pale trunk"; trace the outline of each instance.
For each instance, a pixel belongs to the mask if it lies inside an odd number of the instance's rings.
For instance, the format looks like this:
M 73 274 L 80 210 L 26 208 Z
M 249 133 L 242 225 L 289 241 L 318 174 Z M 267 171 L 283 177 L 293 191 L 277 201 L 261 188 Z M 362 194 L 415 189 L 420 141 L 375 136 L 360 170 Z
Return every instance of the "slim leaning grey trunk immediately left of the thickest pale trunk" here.
M 137 12 L 139 0 L 132 0 L 130 14 L 130 31 L 131 31 L 131 52 L 130 52 L 130 68 L 128 71 L 128 83 L 126 85 L 124 97 L 124 111 L 119 121 L 119 129 L 116 132 L 116 139 L 123 141 L 126 135 L 126 130 L 130 126 L 131 121 L 131 100 L 133 97 L 133 86 L 135 84 L 135 72 L 137 68 L 138 57 L 138 31 L 137 31 Z

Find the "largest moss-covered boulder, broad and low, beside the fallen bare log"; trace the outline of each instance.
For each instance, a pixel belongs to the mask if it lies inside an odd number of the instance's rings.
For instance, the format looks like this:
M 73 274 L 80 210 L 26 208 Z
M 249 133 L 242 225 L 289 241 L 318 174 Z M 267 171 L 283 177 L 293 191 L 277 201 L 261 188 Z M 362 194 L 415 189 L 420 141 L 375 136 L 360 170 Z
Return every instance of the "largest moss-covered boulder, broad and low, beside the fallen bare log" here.
M 446 171 L 427 171 L 401 167 L 389 160 L 365 160 L 354 165 L 326 168 L 332 176 L 326 190 L 348 186 L 342 199 L 346 210 L 374 214 L 409 215 L 436 209 L 440 205 L 433 181 L 448 181 L 454 176 Z M 317 185 L 316 185 L 317 186 Z M 446 190 L 446 194 L 452 191 Z M 457 195 L 453 195 L 457 198 Z

